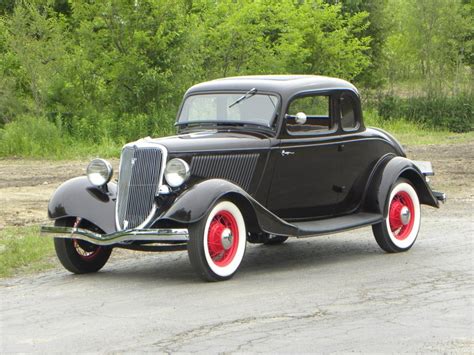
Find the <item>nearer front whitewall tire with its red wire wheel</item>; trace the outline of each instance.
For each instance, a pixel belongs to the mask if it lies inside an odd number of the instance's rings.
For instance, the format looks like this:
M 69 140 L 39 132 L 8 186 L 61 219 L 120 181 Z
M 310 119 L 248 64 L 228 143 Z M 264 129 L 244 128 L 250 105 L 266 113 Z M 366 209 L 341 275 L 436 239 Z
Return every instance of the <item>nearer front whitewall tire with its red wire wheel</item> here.
M 205 281 L 228 280 L 242 262 L 247 241 L 239 208 L 221 200 L 199 222 L 189 226 L 188 255 Z

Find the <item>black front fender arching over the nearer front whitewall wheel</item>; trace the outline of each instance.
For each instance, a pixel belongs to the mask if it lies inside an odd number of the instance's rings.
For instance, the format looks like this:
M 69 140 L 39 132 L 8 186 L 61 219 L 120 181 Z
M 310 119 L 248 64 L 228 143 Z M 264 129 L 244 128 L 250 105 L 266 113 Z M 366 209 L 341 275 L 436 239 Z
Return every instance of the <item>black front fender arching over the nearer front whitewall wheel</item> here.
M 158 219 L 185 225 L 196 223 L 222 198 L 239 206 L 250 227 L 278 235 L 297 234 L 297 228 L 293 225 L 267 210 L 239 186 L 222 179 L 206 180 L 184 191 Z

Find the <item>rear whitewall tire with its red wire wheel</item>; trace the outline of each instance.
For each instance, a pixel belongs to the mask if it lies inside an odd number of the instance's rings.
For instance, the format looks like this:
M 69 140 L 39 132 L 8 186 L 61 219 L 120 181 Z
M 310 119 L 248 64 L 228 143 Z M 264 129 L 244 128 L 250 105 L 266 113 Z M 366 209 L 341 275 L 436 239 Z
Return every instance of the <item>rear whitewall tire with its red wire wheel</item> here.
M 420 201 L 413 185 L 399 179 L 390 192 L 385 220 L 372 226 L 377 244 L 388 253 L 410 249 L 421 224 Z

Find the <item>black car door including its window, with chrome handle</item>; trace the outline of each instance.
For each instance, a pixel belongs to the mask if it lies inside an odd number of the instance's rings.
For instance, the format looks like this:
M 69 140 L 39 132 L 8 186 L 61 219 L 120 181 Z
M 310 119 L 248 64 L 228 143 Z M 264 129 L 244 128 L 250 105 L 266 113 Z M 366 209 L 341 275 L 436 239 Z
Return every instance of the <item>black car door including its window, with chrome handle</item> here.
M 278 216 L 313 219 L 334 213 L 339 149 L 334 112 L 330 93 L 300 95 L 288 105 L 280 143 L 271 152 L 267 207 Z

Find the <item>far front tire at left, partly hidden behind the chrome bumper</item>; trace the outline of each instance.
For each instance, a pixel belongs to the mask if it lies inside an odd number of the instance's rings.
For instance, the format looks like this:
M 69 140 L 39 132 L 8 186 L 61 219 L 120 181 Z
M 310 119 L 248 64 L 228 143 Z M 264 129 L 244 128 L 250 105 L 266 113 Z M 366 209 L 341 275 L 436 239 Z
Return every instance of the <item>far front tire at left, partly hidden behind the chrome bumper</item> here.
M 56 226 L 71 227 L 70 221 L 57 220 Z M 74 274 L 96 272 L 109 260 L 112 248 L 79 239 L 54 238 L 56 255 L 64 268 Z

